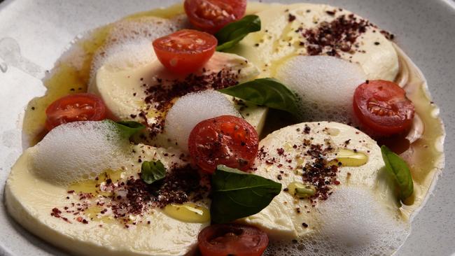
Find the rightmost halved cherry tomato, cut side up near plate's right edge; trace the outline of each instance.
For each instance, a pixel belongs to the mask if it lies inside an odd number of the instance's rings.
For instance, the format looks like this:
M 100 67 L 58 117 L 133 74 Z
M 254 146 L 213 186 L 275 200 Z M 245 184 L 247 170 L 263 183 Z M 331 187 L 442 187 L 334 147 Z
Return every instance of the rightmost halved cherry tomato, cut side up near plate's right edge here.
M 359 85 L 353 108 L 365 127 L 384 136 L 406 131 L 414 118 L 414 104 L 407 99 L 405 90 L 386 80 L 370 80 Z

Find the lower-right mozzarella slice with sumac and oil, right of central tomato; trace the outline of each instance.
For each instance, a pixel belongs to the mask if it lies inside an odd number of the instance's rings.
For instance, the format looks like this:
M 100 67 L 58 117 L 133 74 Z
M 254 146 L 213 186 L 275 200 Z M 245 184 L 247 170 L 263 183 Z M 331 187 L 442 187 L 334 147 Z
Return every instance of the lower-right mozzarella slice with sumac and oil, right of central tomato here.
M 291 189 L 291 183 L 314 186 L 315 183 L 302 178 L 304 172 L 311 172 L 308 166 L 314 164 L 319 156 L 328 162 L 340 157 L 339 161 L 344 164 L 338 166 L 335 176 L 315 175 L 316 178 L 322 178 L 319 184 L 328 180 L 330 192 L 341 187 L 372 190 L 377 194 L 377 204 L 390 211 L 391 218 L 394 218 L 394 214 L 398 215 L 398 202 L 393 196 L 393 189 L 389 187 L 386 178 L 378 178 L 384 176 L 384 161 L 379 146 L 372 138 L 353 127 L 337 122 L 292 125 L 269 134 L 260 141 L 259 148 L 254 164 L 255 174 L 281 183 L 283 189 Z M 357 157 L 356 154 L 362 154 L 360 159 L 363 161 L 349 161 L 345 158 L 349 151 L 353 158 Z M 323 155 L 319 155 L 320 152 Z M 337 165 L 337 162 L 328 166 L 333 164 Z M 345 164 L 351 166 L 344 166 Z M 330 199 L 330 192 L 321 194 L 321 197 Z M 318 212 L 318 206 L 325 204 L 325 199 L 321 197 L 298 199 L 290 191 L 283 191 L 260 213 L 242 221 L 261 227 L 272 239 L 290 240 L 313 234 L 318 229 L 318 220 L 330 218 L 321 216 Z

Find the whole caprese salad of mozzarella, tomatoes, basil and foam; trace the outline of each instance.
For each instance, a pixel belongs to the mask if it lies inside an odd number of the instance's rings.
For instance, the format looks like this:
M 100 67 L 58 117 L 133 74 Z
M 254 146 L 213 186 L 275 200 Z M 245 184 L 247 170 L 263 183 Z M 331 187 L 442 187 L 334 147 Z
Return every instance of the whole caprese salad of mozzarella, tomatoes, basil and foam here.
M 8 212 L 75 255 L 391 255 L 444 136 L 392 40 L 343 8 L 246 0 L 94 29 L 27 108 Z

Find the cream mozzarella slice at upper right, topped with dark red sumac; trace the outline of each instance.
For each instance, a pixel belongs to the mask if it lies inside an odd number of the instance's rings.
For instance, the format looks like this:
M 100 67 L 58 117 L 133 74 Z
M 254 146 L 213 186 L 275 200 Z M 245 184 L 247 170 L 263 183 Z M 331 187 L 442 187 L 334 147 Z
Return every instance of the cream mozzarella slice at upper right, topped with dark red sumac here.
M 315 45 L 315 43 L 309 41 L 308 36 L 304 36 L 307 31 L 311 33 L 311 29 L 321 27 L 321 24 L 330 24 L 342 15 L 345 17 L 352 15 L 356 18 L 357 23 L 363 21 L 365 24 L 367 22 L 348 10 L 313 3 L 273 6 L 257 15 L 262 22 L 262 29 L 248 34 L 232 52 L 246 57 L 258 66 L 261 70 L 261 77 L 274 76 L 276 65 L 286 60 L 287 57 L 312 55 L 307 51 L 307 46 Z M 360 25 L 360 27 L 362 26 Z M 334 33 L 336 32 L 334 31 Z M 350 31 L 346 34 L 355 36 Z M 392 43 L 381 34 L 380 29 L 374 25 L 366 26 L 365 32 L 356 38 L 346 52 L 340 50 L 342 43 L 346 41 L 344 36 L 342 35 L 336 49 L 339 57 L 360 64 L 370 80 L 395 79 L 398 73 L 398 55 Z M 318 38 L 318 40 L 320 39 Z M 330 50 L 330 48 L 323 49 L 323 52 L 325 50 Z

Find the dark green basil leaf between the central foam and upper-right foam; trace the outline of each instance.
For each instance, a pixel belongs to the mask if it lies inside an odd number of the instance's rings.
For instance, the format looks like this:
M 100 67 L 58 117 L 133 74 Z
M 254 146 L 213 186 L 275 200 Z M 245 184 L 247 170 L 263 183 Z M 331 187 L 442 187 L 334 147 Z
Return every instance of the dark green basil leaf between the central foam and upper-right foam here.
M 253 104 L 286 111 L 297 115 L 299 98 L 278 80 L 273 78 L 255 79 L 240 85 L 219 90 Z

